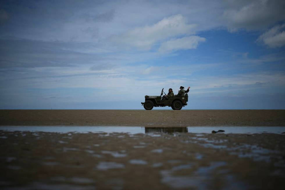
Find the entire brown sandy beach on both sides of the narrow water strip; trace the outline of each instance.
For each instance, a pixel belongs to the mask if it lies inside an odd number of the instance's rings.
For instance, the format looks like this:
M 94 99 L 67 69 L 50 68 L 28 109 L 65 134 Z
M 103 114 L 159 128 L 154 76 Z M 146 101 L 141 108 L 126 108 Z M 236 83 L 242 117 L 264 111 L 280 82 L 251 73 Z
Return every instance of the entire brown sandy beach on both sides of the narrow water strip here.
M 0 189 L 284 189 L 284 114 L 284 110 L 1 110 L 0 125 L 5 129 L 0 130 Z M 143 131 L 60 133 L 22 131 L 23 126 L 51 131 L 141 126 L 137 128 Z M 186 126 L 207 129 L 198 134 Z M 227 126 L 283 127 L 278 134 L 257 134 L 254 129 L 215 134 L 209 126 L 226 132 Z

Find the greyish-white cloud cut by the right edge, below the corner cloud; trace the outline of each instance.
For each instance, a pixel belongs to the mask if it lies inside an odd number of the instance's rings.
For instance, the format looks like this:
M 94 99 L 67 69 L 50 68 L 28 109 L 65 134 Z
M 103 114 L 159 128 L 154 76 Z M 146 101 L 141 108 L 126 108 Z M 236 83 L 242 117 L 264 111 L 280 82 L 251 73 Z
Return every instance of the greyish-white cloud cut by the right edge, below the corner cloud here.
M 285 45 L 285 24 L 274 26 L 272 29 L 259 36 L 257 41 L 262 41 L 271 48 Z

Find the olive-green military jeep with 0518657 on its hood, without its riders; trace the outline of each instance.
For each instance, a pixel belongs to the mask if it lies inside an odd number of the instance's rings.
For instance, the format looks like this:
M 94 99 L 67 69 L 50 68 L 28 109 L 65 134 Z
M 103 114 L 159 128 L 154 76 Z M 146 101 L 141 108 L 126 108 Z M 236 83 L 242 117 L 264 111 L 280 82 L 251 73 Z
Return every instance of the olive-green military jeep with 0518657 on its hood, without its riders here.
M 148 95 L 145 96 L 145 102 L 142 102 L 141 104 L 146 110 L 151 110 L 153 107 L 165 107 L 165 106 L 168 107 L 171 106 L 173 110 L 181 110 L 182 107 L 187 105 L 188 102 L 187 93 L 185 93 L 185 96 L 174 95 L 174 97 L 170 97 L 168 100 L 161 100 L 163 95 L 163 89 L 161 90 L 160 96 L 148 96 Z

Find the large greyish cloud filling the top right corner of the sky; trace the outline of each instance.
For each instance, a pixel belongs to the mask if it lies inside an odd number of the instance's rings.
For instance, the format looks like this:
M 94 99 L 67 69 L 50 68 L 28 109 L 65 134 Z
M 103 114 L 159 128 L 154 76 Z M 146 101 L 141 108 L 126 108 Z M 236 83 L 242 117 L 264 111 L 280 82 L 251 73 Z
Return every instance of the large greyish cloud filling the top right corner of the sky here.
M 284 6 L 283 0 L 233 0 L 228 2 L 222 17 L 229 31 L 264 29 L 285 19 Z

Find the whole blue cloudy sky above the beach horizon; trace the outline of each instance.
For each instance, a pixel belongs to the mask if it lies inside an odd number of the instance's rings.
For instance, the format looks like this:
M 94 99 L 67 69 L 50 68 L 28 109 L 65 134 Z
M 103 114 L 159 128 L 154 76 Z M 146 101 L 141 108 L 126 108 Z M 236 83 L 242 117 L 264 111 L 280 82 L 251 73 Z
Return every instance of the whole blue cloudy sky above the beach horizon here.
M 180 86 L 183 109 L 285 109 L 285 1 L 0 1 L 0 109 L 143 109 Z

